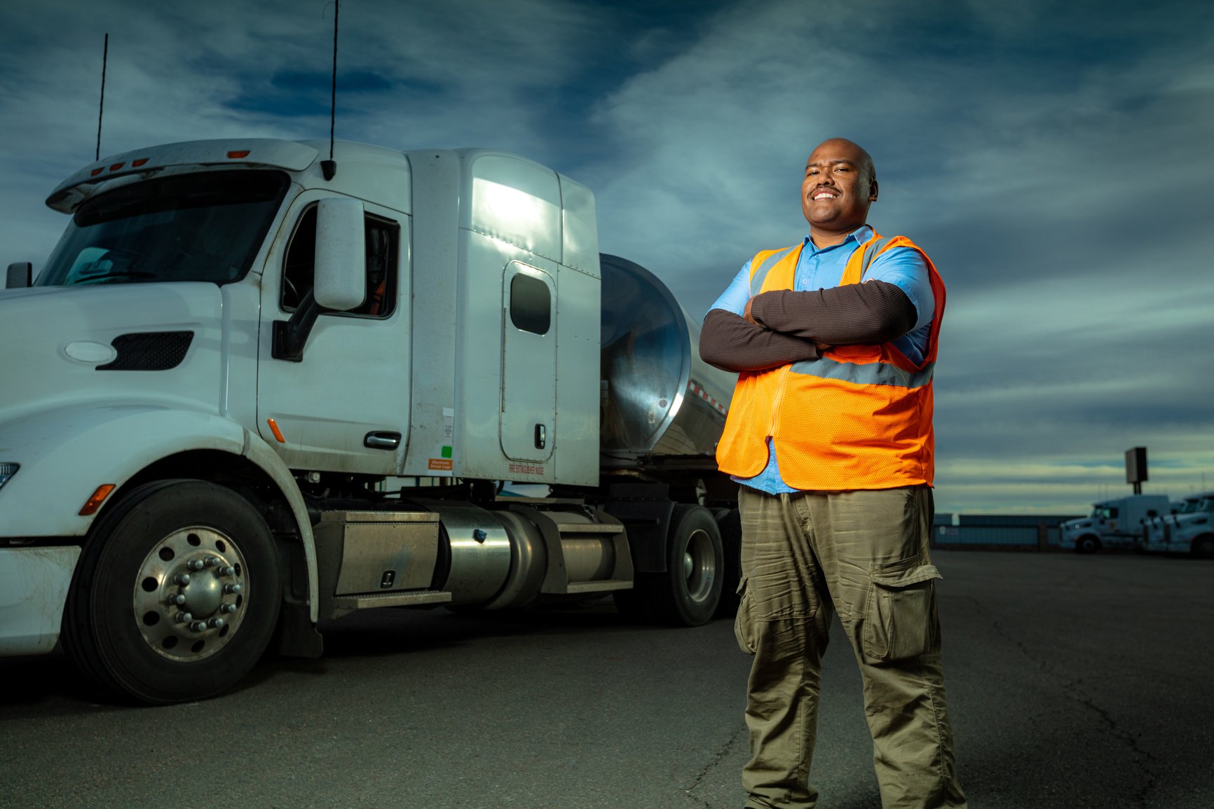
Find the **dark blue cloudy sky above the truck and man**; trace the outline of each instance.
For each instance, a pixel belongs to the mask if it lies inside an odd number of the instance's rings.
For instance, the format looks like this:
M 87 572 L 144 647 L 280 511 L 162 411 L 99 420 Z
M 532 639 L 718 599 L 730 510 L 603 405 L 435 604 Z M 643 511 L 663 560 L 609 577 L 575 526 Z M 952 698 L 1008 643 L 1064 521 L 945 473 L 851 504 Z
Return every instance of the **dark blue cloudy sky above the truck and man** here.
M 322 0 L 0 7 L 0 238 L 45 262 L 42 206 L 102 152 L 327 137 Z M 812 147 L 874 156 L 870 222 L 948 285 L 941 511 L 1084 511 L 1214 488 L 1214 5 L 969 1 L 341 5 L 337 136 L 524 154 L 594 189 L 600 245 L 699 317 L 799 241 Z M 1208 480 L 1207 480 L 1208 478 Z

